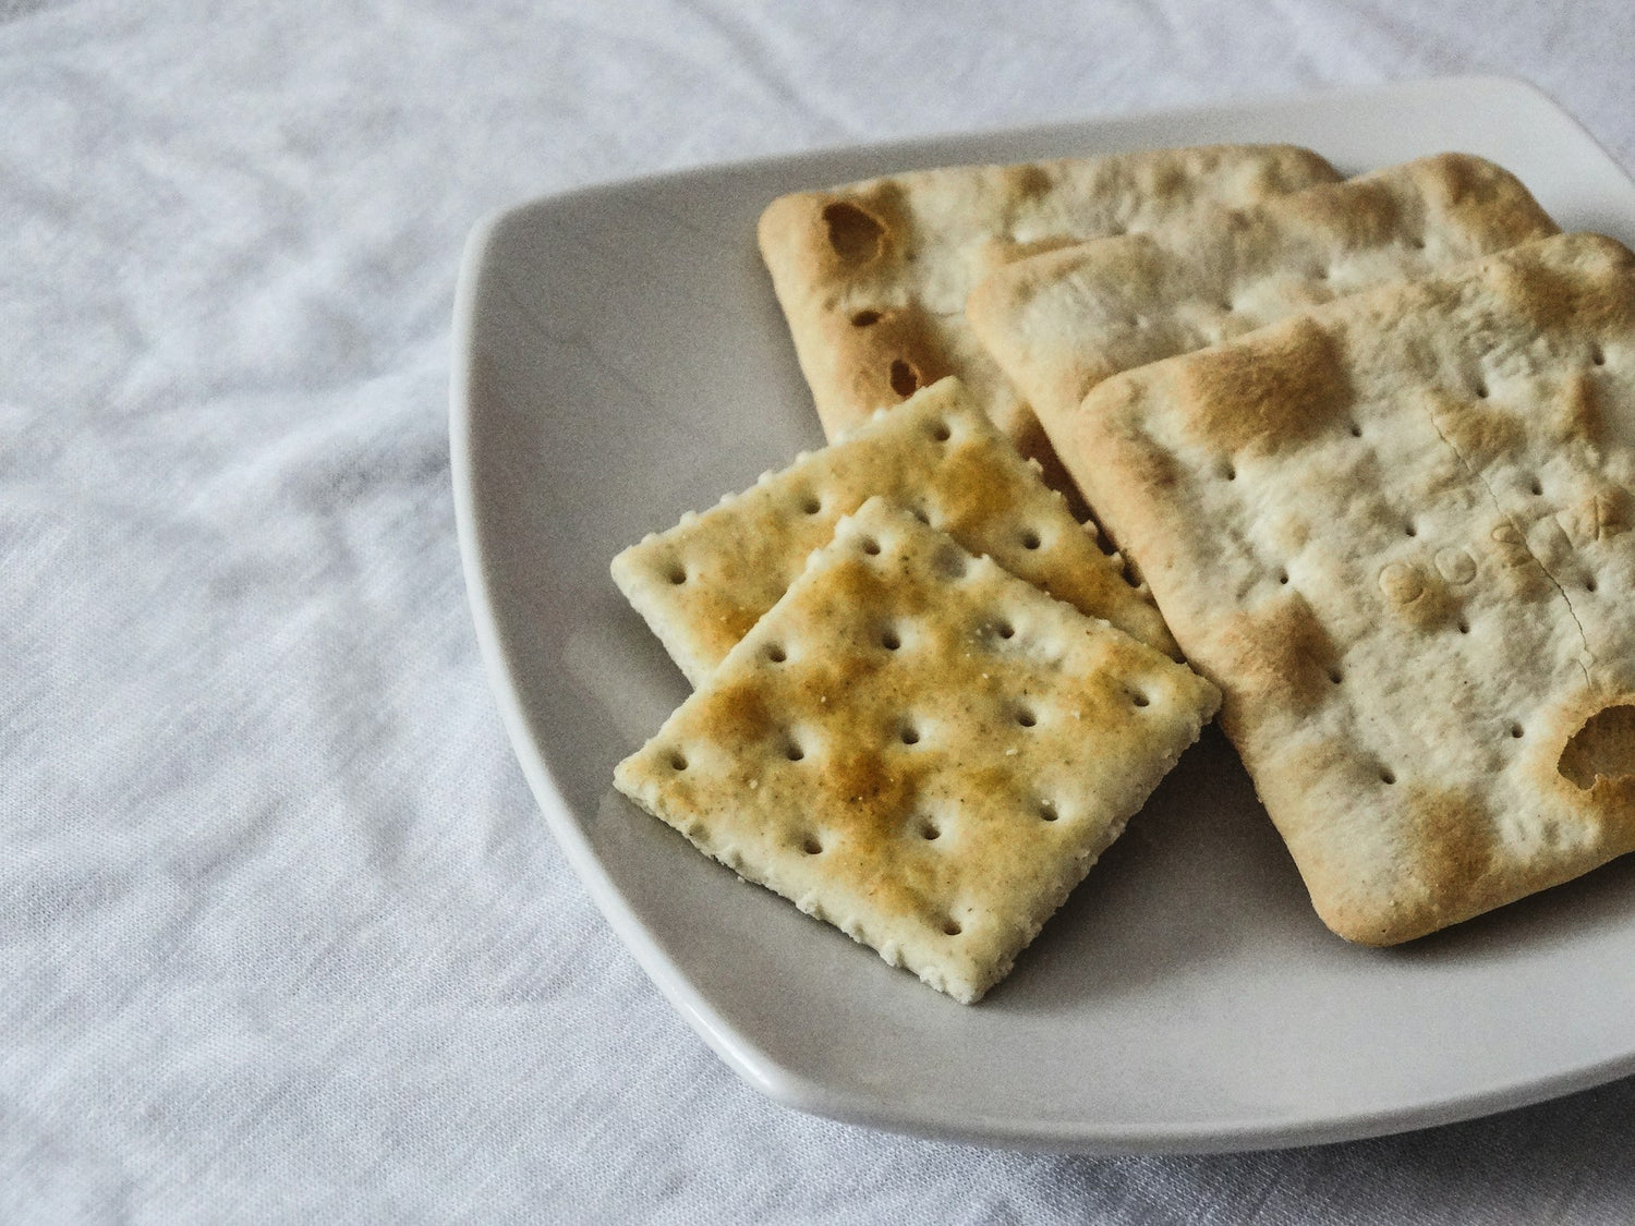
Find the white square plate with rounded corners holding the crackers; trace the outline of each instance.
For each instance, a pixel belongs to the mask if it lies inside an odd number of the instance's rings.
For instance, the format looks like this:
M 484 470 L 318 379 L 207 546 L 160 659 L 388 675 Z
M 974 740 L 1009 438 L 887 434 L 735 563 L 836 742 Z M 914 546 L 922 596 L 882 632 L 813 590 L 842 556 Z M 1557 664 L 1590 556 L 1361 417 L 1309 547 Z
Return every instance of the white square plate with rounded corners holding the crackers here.
M 512 742 L 613 928 L 780 1102 L 997 1144 L 1202 1151 L 1442 1123 L 1635 1071 L 1635 858 L 1403 948 L 1349 946 L 1215 732 L 973 1009 L 613 791 L 613 763 L 688 688 L 608 559 L 822 441 L 755 255 L 762 206 L 909 167 L 1221 141 L 1303 144 L 1346 172 L 1481 154 L 1563 227 L 1635 240 L 1635 185 L 1540 93 L 1491 78 L 701 170 L 471 235 L 455 497 Z

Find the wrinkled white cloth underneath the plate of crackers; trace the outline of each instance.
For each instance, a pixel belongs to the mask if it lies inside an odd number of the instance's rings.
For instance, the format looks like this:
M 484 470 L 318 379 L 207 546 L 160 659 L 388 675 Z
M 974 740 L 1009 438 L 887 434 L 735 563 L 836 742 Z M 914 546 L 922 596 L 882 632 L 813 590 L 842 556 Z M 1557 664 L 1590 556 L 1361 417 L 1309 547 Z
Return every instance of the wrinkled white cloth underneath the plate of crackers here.
M 1632 47 L 1610 0 L 0 0 L 0 1219 L 1627 1218 L 1632 1082 L 1207 1159 L 759 1098 L 535 812 L 445 405 L 459 245 L 526 196 L 1476 70 L 1628 167 Z

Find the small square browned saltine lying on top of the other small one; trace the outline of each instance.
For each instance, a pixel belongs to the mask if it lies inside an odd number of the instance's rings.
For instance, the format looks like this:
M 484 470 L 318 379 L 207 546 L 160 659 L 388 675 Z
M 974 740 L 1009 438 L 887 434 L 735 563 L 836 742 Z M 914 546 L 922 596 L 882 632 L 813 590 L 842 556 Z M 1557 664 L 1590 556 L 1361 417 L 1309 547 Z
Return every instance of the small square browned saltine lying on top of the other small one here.
M 615 785 L 971 1004 L 1216 701 L 1185 665 L 870 499 Z

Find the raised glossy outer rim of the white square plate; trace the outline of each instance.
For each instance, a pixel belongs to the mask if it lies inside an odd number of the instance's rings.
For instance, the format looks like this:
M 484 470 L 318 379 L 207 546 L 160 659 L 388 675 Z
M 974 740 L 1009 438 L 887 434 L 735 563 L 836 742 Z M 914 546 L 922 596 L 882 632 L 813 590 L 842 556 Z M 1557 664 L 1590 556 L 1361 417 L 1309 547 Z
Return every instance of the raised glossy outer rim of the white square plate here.
M 450 481 L 455 505 L 455 528 L 468 606 L 477 641 L 482 670 L 499 706 L 512 752 L 522 767 L 530 791 L 540 806 L 569 866 L 584 884 L 590 899 L 610 924 L 620 942 L 629 950 L 643 973 L 652 981 L 664 999 L 682 1015 L 688 1027 L 705 1040 L 711 1051 L 744 1082 L 773 1102 L 793 1107 L 822 1118 L 880 1128 L 885 1131 L 922 1136 L 943 1141 L 989 1144 L 1012 1149 L 1037 1149 L 1079 1154 L 1207 1154 L 1251 1149 L 1274 1149 L 1308 1144 L 1333 1144 L 1339 1141 L 1383 1136 L 1390 1133 L 1472 1120 L 1503 1110 L 1514 1110 L 1557 1098 L 1578 1090 L 1602 1085 L 1635 1072 L 1635 1046 L 1625 1054 L 1594 1061 L 1575 1069 L 1543 1076 L 1517 1077 L 1516 1081 L 1488 1087 L 1468 1095 L 1442 1095 L 1393 1108 L 1368 1113 L 1344 1113 L 1323 1116 L 1306 1113 L 1287 1120 L 1244 1120 L 1241 1123 L 1174 1123 L 1143 1125 L 1131 1130 L 1117 1123 L 1086 1123 L 1082 1120 L 1051 1121 L 1027 1118 L 1015 1113 L 996 1113 L 983 1118 L 940 1118 L 934 1112 L 891 1112 L 878 1098 L 837 1090 L 814 1077 L 795 1072 L 770 1056 L 754 1036 L 723 1018 L 692 979 L 682 973 L 656 943 L 647 928 L 636 919 L 618 886 L 605 871 L 600 857 L 579 829 L 577 821 L 559 788 L 549 762 L 540 745 L 518 690 L 518 673 L 512 667 L 512 652 L 497 615 L 492 593 L 489 549 L 482 535 L 479 515 L 479 490 L 473 461 L 473 438 L 477 430 L 479 409 L 473 394 L 473 368 L 476 358 L 477 314 L 489 258 L 495 250 L 500 230 L 513 219 L 528 213 L 567 201 L 620 196 L 654 186 L 677 186 L 688 180 L 713 180 L 741 172 L 790 172 L 816 170 L 819 163 L 844 157 L 898 157 L 906 165 L 935 157 L 935 150 L 952 142 L 973 139 L 999 142 L 1048 141 L 1069 132 L 1117 132 L 1122 128 L 1144 128 L 1164 121 L 1184 121 L 1189 116 L 1220 119 L 1233 113 L 1265 113 L 1275 108 L 1323 101 L 1324 105 L 1359 103 L 1370 98 L 1401 96 L 1422 92 L 1494 90 L 1517 95 L 1517 101 L 1543 106 L 1558 119 L 1576 128 L 1607 162 L 1628 181 L 1630 175 L 1617 157 L 1607 150 L 1584 124 L 1557 103 L 1534 82 L 1504 74 L 1468 74 L 1422 77 L 1373 85 L 1319 88 L 1298 93 L 1234 98 L 1223 103 L 1198 103 L 1174 108 L 1141 110 L 1110 116 L 1091 116 L 1077 121 L 1030 124 L 1022 128 L 942 131 L 925 136 L 903 137 L 885 142 L 818 145 L 795 154 L 767 154 L 719 163 L 688 167 L 675 172 L 636 175 L 603 183 L 585 185 L 561 193 L 549 193 L 518 201 L 482 216 L 471 229 L 459 258 L 453 302 L 453 327 L 450 337 Z M 1635 191 L 1635 181 L 1630 181 Z

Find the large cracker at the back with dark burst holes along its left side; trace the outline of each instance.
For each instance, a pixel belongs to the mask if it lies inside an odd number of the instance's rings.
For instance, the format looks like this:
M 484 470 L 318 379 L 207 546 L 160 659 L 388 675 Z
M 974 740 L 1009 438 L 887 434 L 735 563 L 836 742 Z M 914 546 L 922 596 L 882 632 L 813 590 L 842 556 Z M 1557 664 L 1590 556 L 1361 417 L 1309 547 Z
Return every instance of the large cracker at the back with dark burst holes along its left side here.
M 947 374 L 1051 471 L 1038 422 L 965 324 L 966 294 L 1035 252 L 1337 180 L 1292 145 L 1212 145 L 1009 167 L 943 167 L 800 191 L 767 206 L 760 252 L 824 433 Z

